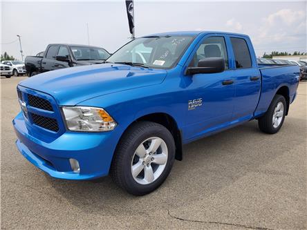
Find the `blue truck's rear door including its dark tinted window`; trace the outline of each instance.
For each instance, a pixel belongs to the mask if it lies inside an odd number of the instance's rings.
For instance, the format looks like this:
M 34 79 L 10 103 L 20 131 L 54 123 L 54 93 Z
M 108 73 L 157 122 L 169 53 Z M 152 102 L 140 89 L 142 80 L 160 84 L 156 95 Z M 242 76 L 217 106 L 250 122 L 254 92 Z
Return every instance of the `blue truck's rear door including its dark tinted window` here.
M 231 44 L 231 65 L 236 91 L 232 120 L 244 121 L 253 117 L 257 107 L 261 89 L 261 73 L 248 37 L 230 35 L 228 42 Z

